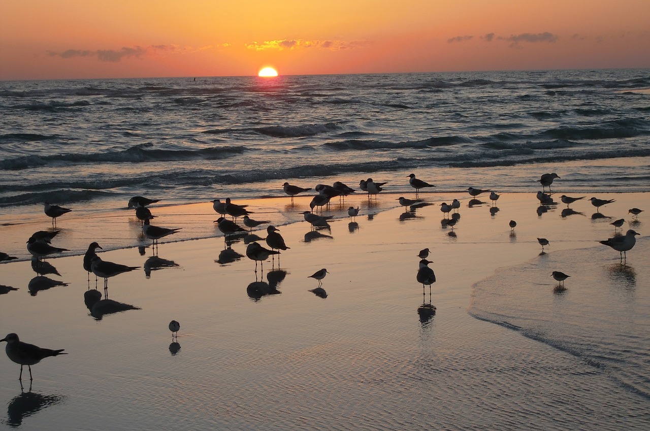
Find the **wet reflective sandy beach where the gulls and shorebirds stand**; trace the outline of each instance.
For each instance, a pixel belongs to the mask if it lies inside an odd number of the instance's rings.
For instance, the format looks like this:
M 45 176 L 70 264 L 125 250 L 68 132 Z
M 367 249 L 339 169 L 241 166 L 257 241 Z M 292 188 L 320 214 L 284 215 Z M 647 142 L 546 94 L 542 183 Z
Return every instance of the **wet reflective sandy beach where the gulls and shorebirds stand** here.
M 19 365 L 0 360 L 7 406 L 0 424 L 647 429 L 650 389 L 638 380 L 649 370 L 650 244 L 646 213 L 638 220 L 625 213 L 649 207 L 650 199 L 642 192 L 599 193 L 616 200 L 600 209 L 611 218 L 599 218 L 590 196 L 568 215 L 563 203 L 540 209 L 532 192 L 501 194 L 498 211 L 490 211 L 487 195 L 470 207 L 466 192 L 421 192 L 432 205 L 413 213 L 397 206 L 398 194 L 381 193 L 376 204 L 365 194 L 348 196 L 324 211 L 335 216 L 330 229 L 316 231 L 300 214 L 311 196 L 296 197 L 293 206 L 289 198 L 237 200 L 250 205 L 254 218 L 272 220 L 291 247 L 263 270 L 258 263 L 257 273 L 246 239 L 228 246 L 209 202 L 151 205 L 159 214 L 152 224 L 190 231 L 188 241 L 162 239 L 158 260 L 150 247 L 138 250 L 151 241 L 138 237 L 132 210 L 113 205 L 92 217 L 83 210 L 64 215 L 53 245 L 74 255 L 46 261 L 60 274 L 47 276 L 68 285 L 30 291 L 36 276 L 30 261 L 0 265 L 1 283 L 19 289 L 0 296 L 0 328 L 68 353 L 32 367 L 31 391 L 27 369 L 21 388 Z M 439 204 L 454 198 L 461 201 L 460 219 L 451 229 L 441 223 Z M 360 207 L 356 220 L 346 214 L 350 205 Z M 626 265 L 597 242 L 614 235 L 609 223 L 616 218 L 627 220 L 623 233 L 641 234 Z M 510 220 L 517 222 L 513 231 Z M 24 242 L 49 224 L 42 216 L 5 225 L 4 244 Z M 253 233 L 264 238 L 264 228 Z M 189 241 L 197 236 L 204 238 Z M 550 241 L 543 254 L 538 237 Z M 140 267 L 108 280 L 111 300 L 140 309 L 91 315 L 84 295 L 95 280 L 90 274 L 88 281 L 80 254 L 92 241 L 109 250 L 98 250 L 102 259 Z M 127 248 L 116 246 L 127 241 Z M 425 247 L 437 278 L 431 296 L 415 280 Z M 328 270 L 326 298 L 310 291 L 318 281 L 309 276 L 320 268 Z M 565 291 L 555 289 L 553 270 L 571 275 Z M 421 313 L 427 304 L 436 307 L 434 316 Z M 529 311 L 534 322 L 526 320 Z M 177 344 L 167 328 L 172 319 L 181 324 Z M 599 324 L 623 321 L 614 344 L 599 345 Z M 562 324 L 575 330 L 563 331 Z M 596 330 L 578 330 L 584 328 Z M 582 337 L 568 336 L 577 333 Z M 623 348 L 626 337 L 636 340 L 634 350 Z M 603 356 L 606 348 L 611 358 Z

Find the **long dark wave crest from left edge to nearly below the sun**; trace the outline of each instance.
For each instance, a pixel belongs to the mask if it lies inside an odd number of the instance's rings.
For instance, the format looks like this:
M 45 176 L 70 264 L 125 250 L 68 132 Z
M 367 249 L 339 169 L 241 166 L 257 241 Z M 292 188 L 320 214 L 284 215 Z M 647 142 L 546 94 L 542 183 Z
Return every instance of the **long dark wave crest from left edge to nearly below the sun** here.
M 140 144 L 123 151 L 106 151 L 102 153 L 67 153 L 57 155 L 28 155 L 0 161 L 0 169 L 22 170 L 46 166 L 49 164 L 83 164 L 98 162 L 153 162 L 153 161 L 183 161 L 183 160 L 218 160 L 241 154 L 246 151 L 243 146 L 224 146 L 201 148 L 199 150 L 160 150 L 149 149 L 153 144 Z

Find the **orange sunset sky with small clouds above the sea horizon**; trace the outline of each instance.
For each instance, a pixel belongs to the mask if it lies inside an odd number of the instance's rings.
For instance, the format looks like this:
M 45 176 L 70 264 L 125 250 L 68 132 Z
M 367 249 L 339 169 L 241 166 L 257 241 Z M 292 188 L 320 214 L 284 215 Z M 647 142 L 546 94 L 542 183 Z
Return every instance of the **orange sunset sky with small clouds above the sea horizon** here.
M 4 0 L 0 80 L 650 67 L 648 0 Z

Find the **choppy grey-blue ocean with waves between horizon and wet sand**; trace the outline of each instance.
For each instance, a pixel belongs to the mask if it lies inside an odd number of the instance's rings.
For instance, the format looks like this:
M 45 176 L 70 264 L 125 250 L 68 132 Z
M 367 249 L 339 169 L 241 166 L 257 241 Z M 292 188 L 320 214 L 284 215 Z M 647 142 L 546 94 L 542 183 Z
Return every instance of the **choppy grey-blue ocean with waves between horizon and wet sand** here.
M 650 70 L 5 81 L 0 207 L 284 196 L 360 179 L 437 192 L 647 191 Z

